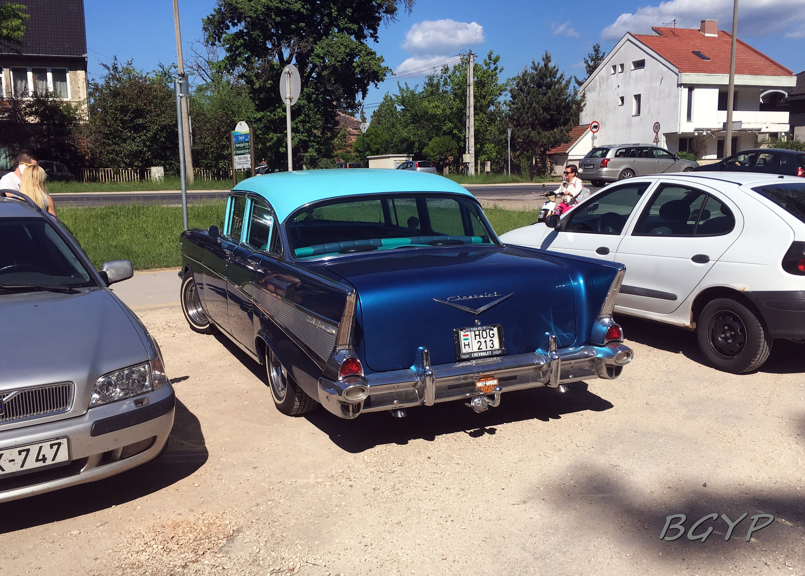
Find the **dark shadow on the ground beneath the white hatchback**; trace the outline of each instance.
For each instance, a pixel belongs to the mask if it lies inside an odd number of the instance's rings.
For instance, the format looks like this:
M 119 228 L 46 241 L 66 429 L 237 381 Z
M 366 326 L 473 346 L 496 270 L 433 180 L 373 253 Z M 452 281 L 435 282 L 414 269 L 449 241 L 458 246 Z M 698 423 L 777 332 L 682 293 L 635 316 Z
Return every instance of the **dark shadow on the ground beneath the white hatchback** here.
M 694 331 L 631 316 L 616 315 L 616 320 L 623 327 L 627 344 L 632 340 L 658 350 L 682 354 L 697 364 L 708 365 L 699 351 L 699 342 Z M 771 374 L 805 372 L 805 344 L 791 340 L 774 340 L 769 360 L 766 360 L 758 372 Z

